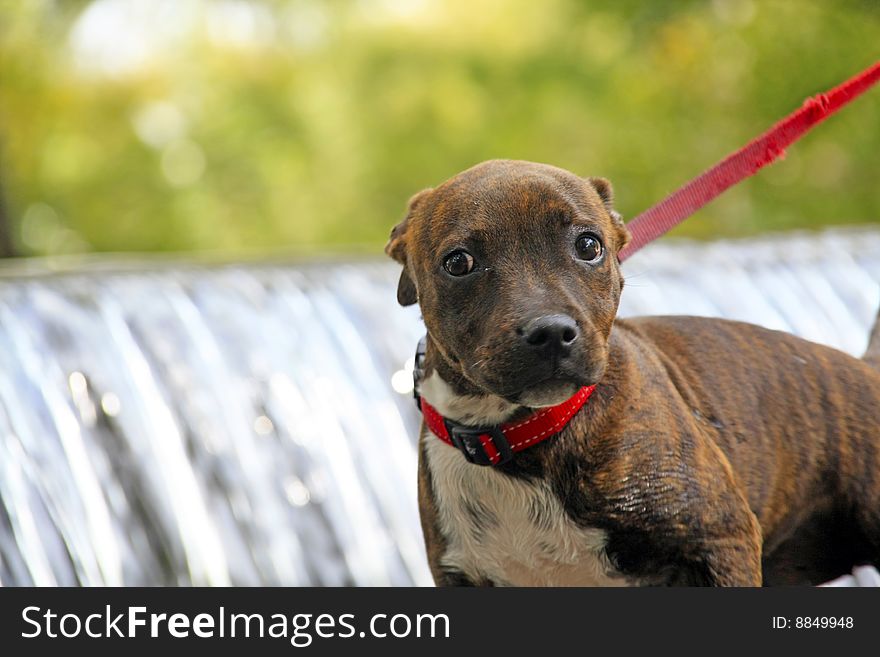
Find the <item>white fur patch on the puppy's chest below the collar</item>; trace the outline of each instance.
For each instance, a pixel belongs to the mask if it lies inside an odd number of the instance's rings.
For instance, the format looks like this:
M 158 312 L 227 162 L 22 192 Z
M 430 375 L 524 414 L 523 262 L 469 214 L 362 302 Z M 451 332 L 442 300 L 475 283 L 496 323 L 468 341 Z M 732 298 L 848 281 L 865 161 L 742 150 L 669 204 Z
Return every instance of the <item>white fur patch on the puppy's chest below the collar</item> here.
M 510 586 L 624 586 L 605 558 L 605 532 L 578 527 L 544 482 L 467 463 L 427 437 L 444 566 Z

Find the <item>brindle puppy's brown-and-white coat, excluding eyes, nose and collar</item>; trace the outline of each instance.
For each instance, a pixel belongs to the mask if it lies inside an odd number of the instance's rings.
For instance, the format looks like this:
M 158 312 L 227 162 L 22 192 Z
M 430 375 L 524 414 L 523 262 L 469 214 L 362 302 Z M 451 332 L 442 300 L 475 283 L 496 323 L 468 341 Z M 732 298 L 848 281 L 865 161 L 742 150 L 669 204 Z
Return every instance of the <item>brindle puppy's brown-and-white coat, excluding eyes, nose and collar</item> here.
M 591 262 L 585 233 L 604 244 Z M 428 330 L 421 394 L 445 416 L 497 424 L 598 384 L 497 468 L 423 427 L 437 584 L 815 583 L 877 564 L 880 328 L 858 360 L 739 322 L 615 319 L 627 240 L 606 180 L 519 161 L 417 194 L 392 231 L 398 299 Z M 473 270 L 450 275 L 459 250 Z M 548 316 L 577 325 L 564 353 L 523 340 Z

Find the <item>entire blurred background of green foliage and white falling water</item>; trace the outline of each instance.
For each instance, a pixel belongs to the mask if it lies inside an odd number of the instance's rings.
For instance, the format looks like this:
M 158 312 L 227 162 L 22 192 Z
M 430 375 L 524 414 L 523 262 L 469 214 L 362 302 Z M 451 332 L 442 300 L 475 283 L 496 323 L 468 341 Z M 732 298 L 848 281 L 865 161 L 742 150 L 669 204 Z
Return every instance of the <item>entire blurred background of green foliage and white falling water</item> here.
M 523 158 L 633 217 L 878 57 L 878 0 L 0 0 L 0 256 L 42 256 L 0 261 L 0 585 L 429 584 L 408 198 Z M 783 236 L 660 240 L 621 315 L 861 354 L 878 153 L 880 89 L 676 229 Z

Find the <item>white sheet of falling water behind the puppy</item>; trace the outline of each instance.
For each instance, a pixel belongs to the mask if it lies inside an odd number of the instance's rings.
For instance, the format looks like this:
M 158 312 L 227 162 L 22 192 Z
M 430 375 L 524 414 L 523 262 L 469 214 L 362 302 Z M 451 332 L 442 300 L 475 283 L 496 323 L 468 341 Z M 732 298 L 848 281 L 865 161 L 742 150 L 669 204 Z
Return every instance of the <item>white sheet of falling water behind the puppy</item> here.
M 623 315 L 859 354 L 880 232 L 660 244 L 624 271 Z M 423 328 L 397 273 L 0 270 L 0 583 L 429 583 L 406 386 Z

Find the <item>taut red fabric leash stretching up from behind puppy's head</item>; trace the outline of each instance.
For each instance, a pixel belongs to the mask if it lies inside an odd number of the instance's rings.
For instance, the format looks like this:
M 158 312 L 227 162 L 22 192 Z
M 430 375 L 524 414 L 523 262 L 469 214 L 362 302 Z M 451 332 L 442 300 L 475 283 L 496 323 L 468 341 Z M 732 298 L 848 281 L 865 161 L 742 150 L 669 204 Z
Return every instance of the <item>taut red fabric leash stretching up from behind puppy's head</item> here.
M 632 240 L 619 258 L 623 262 L 719 196 L 728 187 L 755 174 L 785 153 L 785 149 L 814 125 L 858 98 L 880 80 L 880 62 L 831 91 L 808 98 L 803 106 L 770 130 L 728 155 L 711 169 L 646 210 L 627 224 Z

